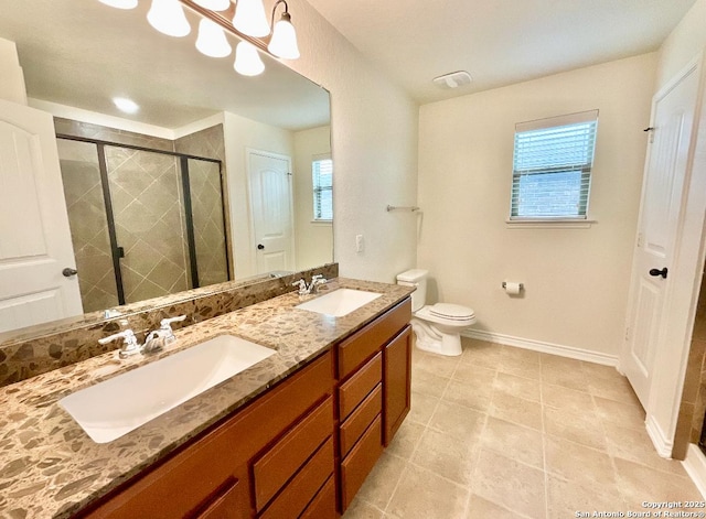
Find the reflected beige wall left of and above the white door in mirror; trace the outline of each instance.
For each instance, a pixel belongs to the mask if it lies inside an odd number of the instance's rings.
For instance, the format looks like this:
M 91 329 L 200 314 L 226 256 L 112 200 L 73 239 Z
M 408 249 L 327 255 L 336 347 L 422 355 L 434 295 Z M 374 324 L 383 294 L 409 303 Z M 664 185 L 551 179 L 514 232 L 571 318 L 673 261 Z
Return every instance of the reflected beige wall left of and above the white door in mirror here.
M 247 185 L 246 149 L 292 156 L 292 132 L 264 125 L 235 113 L 224 113 L 225 161 L 227 164 L 228 208 L 233 238 L 235 279 L 254 275 L 255 250 L 252 247 L 250 202 Z

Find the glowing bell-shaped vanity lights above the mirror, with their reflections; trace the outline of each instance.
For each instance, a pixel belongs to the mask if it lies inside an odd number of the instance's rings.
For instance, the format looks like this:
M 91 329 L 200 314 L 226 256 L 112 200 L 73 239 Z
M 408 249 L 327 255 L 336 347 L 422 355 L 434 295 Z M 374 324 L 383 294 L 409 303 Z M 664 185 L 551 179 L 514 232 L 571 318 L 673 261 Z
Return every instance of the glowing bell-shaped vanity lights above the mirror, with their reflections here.
M 139 0 L 98 1 L 118 9 L 133 9 Z M 284 11 L 275 22 L 280 4 Z M 226 57 L 233 52 L 226 31 L 242 40 L 236 46 L 233 65 L 238 74 L 261 74 L 265 64 L 259 56 L 260 52 L 281 60 L 297 60 L 300 56 L 297 32 L 286 0 L 275 2 L 269 22 L 263 0 L 151 0 L 147 20 L 163 34 L 186 36 L 191 32 L 191 25 L 184 7 L 204 17 L 199 23 L 199 52 L 206 56 Z

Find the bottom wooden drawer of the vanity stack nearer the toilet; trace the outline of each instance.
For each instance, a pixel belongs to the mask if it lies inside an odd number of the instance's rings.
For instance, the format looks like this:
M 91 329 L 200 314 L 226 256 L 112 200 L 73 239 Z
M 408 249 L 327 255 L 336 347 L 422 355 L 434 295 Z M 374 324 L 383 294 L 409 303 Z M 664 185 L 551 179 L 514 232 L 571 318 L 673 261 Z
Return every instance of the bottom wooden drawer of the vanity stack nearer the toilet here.
M 361 441 L 341 464 L 341 500 L 345 510 L 363 485 L 383 452 L 382 420 L 379 417 L 367 428 Z

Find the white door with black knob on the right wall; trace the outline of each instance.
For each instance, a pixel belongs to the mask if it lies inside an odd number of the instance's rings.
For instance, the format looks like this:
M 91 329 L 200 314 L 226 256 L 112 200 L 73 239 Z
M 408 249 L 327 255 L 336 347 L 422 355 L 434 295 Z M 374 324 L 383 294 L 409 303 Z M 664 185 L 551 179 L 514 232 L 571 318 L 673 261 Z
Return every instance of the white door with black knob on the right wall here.
M 682 219 L 684 180 L 698 93 L 698 69 L 657 94 L 652 109 L 638 242 L 621 369 L 643 407 L 652 388 L 654 359 L 668 318 L 670 269 Z

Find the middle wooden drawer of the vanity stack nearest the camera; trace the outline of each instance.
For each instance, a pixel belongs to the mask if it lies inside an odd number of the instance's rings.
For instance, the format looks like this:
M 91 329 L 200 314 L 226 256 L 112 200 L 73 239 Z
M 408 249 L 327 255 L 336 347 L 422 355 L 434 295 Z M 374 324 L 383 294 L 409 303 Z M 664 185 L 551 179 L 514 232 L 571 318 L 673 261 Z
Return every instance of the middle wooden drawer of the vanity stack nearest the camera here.
M 264 519 L 299 517 L 333 474 L 333 440 L 329 437 L 259 517 Z

